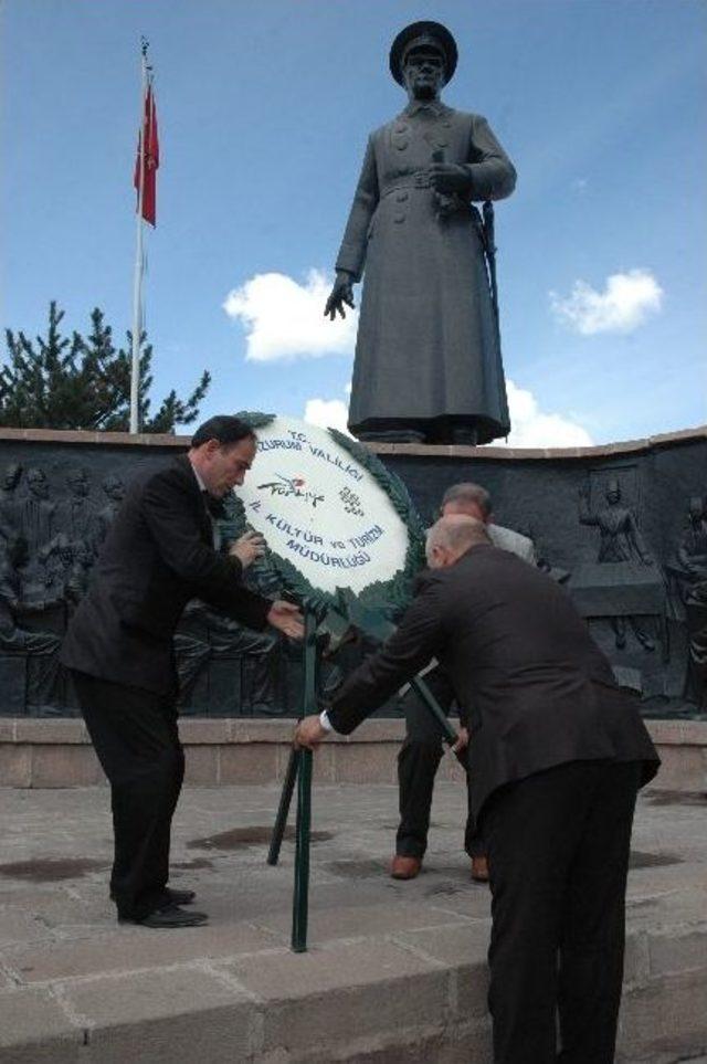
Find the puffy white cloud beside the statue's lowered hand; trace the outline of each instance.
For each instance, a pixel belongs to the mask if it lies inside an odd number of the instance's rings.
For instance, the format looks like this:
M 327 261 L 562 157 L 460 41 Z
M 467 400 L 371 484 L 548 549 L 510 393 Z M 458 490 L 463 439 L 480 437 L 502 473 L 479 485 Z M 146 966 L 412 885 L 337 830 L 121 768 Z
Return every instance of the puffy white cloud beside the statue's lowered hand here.
M 358 310 L 346 318 L 324 316 L 331 280 L 310 270 L 304 284 L 284 273 L 258 273 L 233 288 L 223 309 L 245 329 L 246 359 L 272 362 L 283 358 L 350 355 L 356 346 Z

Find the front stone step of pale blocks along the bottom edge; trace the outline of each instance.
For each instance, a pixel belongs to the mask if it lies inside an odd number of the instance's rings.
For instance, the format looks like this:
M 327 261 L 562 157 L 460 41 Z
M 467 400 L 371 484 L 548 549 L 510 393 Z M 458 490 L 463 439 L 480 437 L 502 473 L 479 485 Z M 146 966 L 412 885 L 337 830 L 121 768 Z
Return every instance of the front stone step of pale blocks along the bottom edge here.
M 0 1062 L 487 1064 L 487 933 L 478 921 L 15 984 L 0 992 Z M 707 929 L 672 937 L 669 973 L 626 973 L 618 1062 L 705 1060 L 707 967 L 690 966 Z

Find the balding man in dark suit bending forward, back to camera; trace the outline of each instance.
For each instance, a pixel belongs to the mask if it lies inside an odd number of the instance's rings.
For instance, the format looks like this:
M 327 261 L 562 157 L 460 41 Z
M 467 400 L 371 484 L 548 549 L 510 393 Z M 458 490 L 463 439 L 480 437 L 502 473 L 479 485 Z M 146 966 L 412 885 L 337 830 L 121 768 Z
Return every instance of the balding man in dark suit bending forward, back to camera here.
M 637 788 L 658 758 L 568 596 L 471 517 L 428 538 L 400 628 L 296 740 L 348 735 L 432 656 L 469 719 L 472 804 L 493 895 L 496 1064 L 611 1064 Z

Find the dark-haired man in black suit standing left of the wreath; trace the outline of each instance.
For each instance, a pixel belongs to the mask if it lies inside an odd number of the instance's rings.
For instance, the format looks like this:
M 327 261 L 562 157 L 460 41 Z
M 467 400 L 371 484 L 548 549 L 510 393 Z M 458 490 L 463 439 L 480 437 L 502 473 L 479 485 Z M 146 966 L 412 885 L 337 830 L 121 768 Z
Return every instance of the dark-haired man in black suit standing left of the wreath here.
M 271 624 L 286 635 L 303 634 L 296 607 L 242 582 L 243 570 L 263 551 L 261 537 L 247 534 L 226 556 L 213 548 L 210 508 L 243 483 L 255 447 L 244 422 L 211 418 L 188 454 L 133 483 L 62 647 L 110 782 L 110 894 L 122 921 L 169 928 L 207 919 L 180 907 L 193 900 L 193 892 L 167 886 L 170 825 L 184 770 L 172 638 L 187 602 L 202 599 L 257 630 Z

